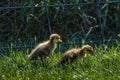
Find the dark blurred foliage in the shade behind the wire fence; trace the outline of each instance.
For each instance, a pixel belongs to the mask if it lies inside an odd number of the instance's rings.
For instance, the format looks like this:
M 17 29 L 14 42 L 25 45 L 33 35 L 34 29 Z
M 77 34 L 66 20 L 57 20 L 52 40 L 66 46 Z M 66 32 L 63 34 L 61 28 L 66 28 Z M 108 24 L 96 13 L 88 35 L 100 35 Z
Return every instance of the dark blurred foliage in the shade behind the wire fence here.
M 111 0 L 114 1 L 114 0 Z M 58 33 L 63 40 L 82 40 L 87 32 L 93 28 L 88 40 L 117 38 L 120 31 L 120 3 L 100 3 L 110 0 L 2 0 L 0 7 L 35 6 L 34 8 L 0 8 L 0 41 L 15 42 L 18 40 L 38 41 L 48 39 L 52 33 Z M 55 4 L 77 4 L 79 6 L 39 6 Z M 47 9 L 49 14 L 47 14 Z M 48 24 L 50 18 L 50 26 Z M 74 35 L 74 36 L 73 36 Z

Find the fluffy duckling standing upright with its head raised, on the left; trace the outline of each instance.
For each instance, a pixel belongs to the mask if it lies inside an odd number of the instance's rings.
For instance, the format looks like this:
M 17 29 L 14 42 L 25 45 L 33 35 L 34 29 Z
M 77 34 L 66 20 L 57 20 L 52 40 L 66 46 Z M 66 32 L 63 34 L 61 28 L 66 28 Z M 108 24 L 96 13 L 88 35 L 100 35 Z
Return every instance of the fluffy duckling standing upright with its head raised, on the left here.
M 61 42 L 59 34 L 51 34 L 49 40 L 38 44 L 28 55 L 28 58 L 38 60 L 39 58 L 48 57 L 51 51 L 55 50 L 56 44 Z

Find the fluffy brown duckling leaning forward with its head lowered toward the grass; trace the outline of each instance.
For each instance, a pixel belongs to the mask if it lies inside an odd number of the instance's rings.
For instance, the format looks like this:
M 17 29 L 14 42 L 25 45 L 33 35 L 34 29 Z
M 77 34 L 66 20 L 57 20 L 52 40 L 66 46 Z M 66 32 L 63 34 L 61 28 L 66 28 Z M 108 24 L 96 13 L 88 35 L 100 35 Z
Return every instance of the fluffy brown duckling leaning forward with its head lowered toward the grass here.
M 90 45 L 84 45 L 82 48 L 68 50 L 57 63 L 57 66 L 72 63 L 76 61 L 78 57 L 86 57 L 88 54 L 93 55 L 93 47 Z

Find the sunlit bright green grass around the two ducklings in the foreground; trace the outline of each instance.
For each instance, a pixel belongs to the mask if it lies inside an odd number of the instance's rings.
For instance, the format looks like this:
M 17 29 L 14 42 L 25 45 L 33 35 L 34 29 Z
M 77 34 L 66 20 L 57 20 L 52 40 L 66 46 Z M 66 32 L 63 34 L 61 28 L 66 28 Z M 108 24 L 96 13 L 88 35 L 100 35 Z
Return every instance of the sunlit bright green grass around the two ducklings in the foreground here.
M 65 67 L 53 67 L 61 54 L 53 53 L 47 66 L 30 61 L 24 51 L 11 50 L 0 57 L 0 80 L 120 80 L 120 44 L 109 47 L 105 54 L 98 46 L 94 56 L 78 59 Z

